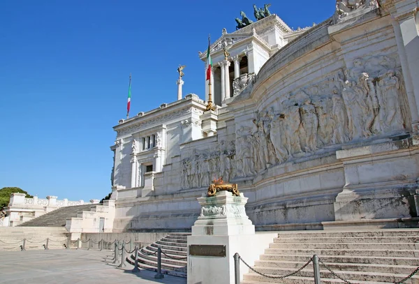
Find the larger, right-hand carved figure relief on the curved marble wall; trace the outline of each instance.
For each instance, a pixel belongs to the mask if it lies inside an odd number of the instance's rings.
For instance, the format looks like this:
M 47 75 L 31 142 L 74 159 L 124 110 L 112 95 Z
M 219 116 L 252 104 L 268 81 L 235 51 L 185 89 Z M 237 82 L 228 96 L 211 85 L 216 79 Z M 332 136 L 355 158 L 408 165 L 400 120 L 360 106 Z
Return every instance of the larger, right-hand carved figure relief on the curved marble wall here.
M 403 133 L 409 121 L 395 59 L 357 58 L 321 82 L 279 94 L 236 132 L 237 177 L 333 145 Z M 409 124 L 409 123 L 408 123 Z

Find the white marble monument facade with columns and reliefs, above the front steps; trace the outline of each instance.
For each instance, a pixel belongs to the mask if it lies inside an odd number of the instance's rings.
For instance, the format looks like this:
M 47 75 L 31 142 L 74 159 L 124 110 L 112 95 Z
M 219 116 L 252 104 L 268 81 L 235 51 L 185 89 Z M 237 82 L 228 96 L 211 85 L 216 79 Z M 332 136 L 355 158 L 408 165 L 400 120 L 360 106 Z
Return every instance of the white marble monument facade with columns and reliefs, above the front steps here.
M 256 230 L 418 226 L 418 9 L 337 0 L 314 27 L 224 29 L 216 110 L 206 87 L 114 127 L 114 232 L 190 230 L 219 177 Z

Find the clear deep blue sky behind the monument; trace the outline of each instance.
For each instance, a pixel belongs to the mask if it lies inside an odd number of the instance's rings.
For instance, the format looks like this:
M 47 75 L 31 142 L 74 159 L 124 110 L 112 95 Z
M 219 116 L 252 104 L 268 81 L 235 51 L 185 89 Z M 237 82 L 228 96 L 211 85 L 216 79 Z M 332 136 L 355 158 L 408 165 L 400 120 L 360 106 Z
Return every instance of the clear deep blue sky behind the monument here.
M 263 1 L 0 1 L 0 188 L 101 199 L 110 188 L 112 126 L 184 94 L 204 97 L 207 36 L 235 30 Z M 332 15 L 335 0 L 272 1 L 288 26 Z

